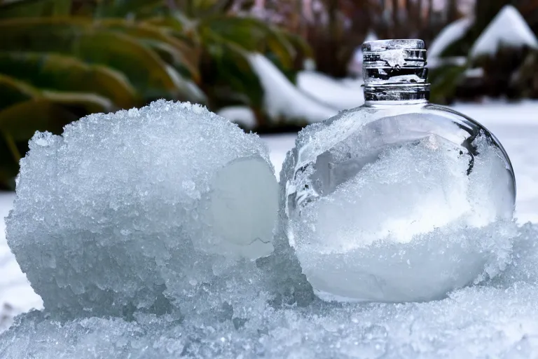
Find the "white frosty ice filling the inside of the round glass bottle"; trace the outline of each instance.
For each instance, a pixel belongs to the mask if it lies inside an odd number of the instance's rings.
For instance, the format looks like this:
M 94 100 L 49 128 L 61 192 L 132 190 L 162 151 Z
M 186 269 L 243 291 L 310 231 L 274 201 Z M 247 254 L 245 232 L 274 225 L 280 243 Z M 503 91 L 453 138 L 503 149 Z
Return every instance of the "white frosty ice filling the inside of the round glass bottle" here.
M 312 140 L 309 134 L 305 130 L 298 141 Z M 436 135 L 387 146 L 333 192 L 315 197 L 297 191 L 301 217 L 289 220 L 287 233 L 316 294 L 427 301 L 504 269 L 514 233 L 504 217 L 513 210 L 504 196 L 509 173 L 485 137 L 473 145 L 481 156 Z M 339 147 L 331 154 L 338 158 Z M 305 150 L 300 158 L 310 157 Z M 282 187 L 303 183 L 290 175 L 303 167 L 293 161 L 288 156 L 284 163 Z

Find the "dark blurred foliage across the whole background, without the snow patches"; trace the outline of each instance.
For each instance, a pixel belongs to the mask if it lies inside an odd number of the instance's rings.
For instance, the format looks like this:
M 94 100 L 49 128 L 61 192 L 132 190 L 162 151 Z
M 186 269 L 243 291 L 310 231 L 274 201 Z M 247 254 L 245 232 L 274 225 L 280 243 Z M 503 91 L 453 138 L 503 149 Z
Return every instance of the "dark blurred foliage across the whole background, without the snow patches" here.
M 256 130 L 274 127 L 251 53 L 292 82 L 308 59 L 333 78 L 360 76 L 368 36 L 431 44 L 468 18 L 431 63 L 432 100 L 538 97 L 535 49 L 469 56 L 506 4 L 537 33 L 538 0 L 0 0 L 0 187 L 13 189 L 36 130 L 61 133 L 93 112 L 166 98 L 246 106 Z

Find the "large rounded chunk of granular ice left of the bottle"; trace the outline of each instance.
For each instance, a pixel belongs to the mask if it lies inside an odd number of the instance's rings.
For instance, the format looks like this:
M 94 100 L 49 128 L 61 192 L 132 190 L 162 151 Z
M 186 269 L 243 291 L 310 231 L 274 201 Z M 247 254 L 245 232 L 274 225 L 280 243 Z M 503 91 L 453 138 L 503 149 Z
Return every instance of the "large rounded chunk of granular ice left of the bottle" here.
M 205 107 L 93 114 L 29 147 L 7 239 L 48 311 L 171 311 L 273 251 L 268 151 Z

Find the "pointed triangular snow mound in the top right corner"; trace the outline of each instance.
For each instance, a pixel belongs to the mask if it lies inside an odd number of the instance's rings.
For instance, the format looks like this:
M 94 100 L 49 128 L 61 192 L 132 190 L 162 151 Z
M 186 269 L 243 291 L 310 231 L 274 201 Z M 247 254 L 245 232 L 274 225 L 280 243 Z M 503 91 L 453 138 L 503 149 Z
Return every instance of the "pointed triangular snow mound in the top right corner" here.
M 519 11 L 506 5 L 484 29 L 471 48 L 471 57 L 495 55 L 499 46 L 538 48 L 538 39 Z

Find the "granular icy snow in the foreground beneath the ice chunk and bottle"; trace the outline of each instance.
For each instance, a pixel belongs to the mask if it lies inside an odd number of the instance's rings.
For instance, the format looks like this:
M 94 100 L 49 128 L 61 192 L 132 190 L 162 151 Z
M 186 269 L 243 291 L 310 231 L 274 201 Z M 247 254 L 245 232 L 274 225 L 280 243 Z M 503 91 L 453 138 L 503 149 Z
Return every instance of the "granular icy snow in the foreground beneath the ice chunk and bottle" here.
M 136 313 L 59 322 L 34 311 L 0 334 L 0 358 L 535 358 L 537 239 L 538 226 L 520 227 L 513 261 L 495 283 L 441 301 L 275 309 L 255 291 L 229 303 L 229 290 L 213 316 L 184 320 Z

